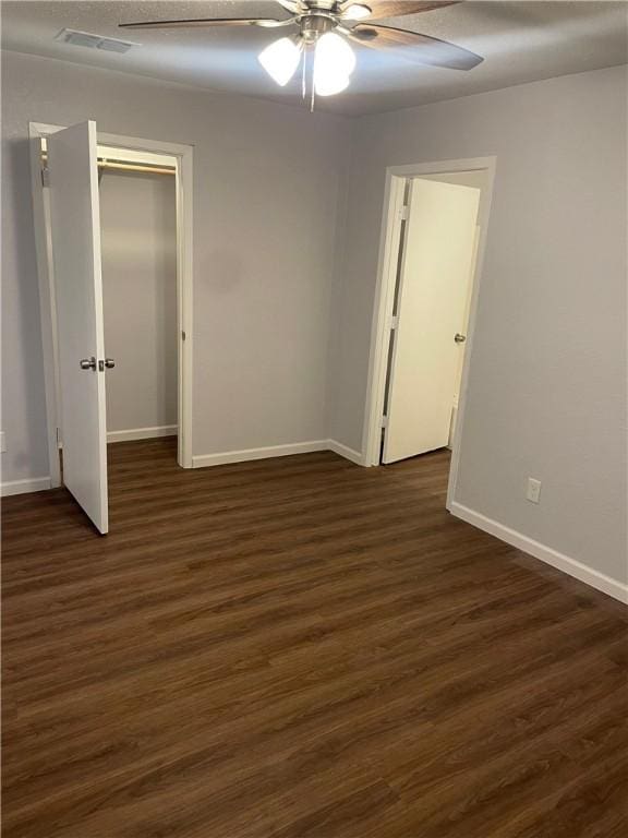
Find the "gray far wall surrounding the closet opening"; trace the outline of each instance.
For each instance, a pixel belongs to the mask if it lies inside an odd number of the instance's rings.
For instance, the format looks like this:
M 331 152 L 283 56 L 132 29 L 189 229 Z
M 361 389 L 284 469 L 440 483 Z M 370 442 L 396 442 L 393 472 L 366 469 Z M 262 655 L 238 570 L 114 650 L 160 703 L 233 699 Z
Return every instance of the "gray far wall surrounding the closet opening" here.
M 2 55 L 2 480 L 48 474 L 28 121 L 194 145 L 193 454 L 326 436 L 349 122 Z

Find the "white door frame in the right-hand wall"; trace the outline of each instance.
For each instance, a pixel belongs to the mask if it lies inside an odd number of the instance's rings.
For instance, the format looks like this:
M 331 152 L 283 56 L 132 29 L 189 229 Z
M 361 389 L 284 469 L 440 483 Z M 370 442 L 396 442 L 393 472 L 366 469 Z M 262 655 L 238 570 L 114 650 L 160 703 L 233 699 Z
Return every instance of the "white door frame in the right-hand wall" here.
M 375 290 L 375 308 L 371 330 L 371 350 L 369 362 L 369 381 L 366 387 L 366 406 L 364 412 L 364 432 L 362 451 L 366 466 L 379 465 L 379 447 L 382 442 L 382 417 L 384 416 L 384 395 L 388 363 L 389 335 L 392 324 L 392 304 L 395 301 L 395 285 L 397 282 L 397 263 L 403 217 L 403 195 L 408 178 L 422 175 L 448 175 L 456 171 L 485 171 L 486 188 L 482 190 L 478 224 L 480 225 L 480 242 L 478 260 L 472 280 L 471 306 L 469 311 L 469 327 L 467 331 L 467 347 L 462 366 L 462 381 L 458 402 L 456 431 L 451 444 L 451 466 L 449 469 L 449 486 L 447 490 L 447 508 L 454 499 L 458 463 L 460 462 L 460 434 L 464 424 L 467 407 L 467 382 L 469 380 L 469 362 L 472 355 L 473 335 L 475 330 L 475 313 L 478 295 L 484 263 L 488 216 L 493 200 L 496 157 L 472 157 L 458 160 L 439 160 L 437 163 L 419 163 L 408 166 L 389 166 L 386 169 L 386 188 L 384 193 L 384 217 L 379 238 L 379 264 L 377 267 L 377 286 Z

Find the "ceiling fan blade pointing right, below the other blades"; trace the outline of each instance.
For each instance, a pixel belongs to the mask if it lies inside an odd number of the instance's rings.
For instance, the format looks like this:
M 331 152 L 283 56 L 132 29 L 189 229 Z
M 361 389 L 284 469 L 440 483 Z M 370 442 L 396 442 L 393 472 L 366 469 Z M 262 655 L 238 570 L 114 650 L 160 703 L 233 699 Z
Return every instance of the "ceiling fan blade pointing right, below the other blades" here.
M 392 48 L 397 55 L 419 64 L 446 67 L 451 70 L 472 70 L 484 59 L 448 40 L 432 38 L 409 29 L 398 29 L 381 24 L 362 24 L 351 29 L 352 40 L 373 49 Z

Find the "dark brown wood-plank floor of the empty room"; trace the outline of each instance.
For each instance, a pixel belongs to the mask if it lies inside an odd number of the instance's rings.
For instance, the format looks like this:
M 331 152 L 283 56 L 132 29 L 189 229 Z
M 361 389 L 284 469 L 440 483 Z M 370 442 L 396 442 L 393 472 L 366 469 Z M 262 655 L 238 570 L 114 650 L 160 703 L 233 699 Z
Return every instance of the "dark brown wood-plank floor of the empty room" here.
M 449 516 L 447 455 L 3 504 L 4 838 L 624 838 L 627 622 Z

